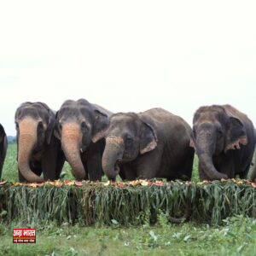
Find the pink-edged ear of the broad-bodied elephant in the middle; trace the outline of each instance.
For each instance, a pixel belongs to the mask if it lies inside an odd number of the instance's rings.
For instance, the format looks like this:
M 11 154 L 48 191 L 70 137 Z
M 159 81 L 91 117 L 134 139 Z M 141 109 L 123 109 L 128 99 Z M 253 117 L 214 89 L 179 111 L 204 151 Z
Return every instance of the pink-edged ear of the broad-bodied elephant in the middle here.
M 156 148 L 158 138 L 154 126 L 149 123 L 148 117 L 141 116 L 143 126 L 140 134 L 140 153 L 145 154 Z

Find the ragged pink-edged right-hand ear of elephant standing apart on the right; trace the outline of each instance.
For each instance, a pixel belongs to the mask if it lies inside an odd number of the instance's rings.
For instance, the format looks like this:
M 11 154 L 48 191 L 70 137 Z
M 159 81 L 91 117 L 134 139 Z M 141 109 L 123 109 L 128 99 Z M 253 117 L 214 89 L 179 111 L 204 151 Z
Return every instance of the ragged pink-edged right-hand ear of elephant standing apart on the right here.
M 241 119 L 230 116 L 225 152 L 230 149 L 240 149 L 240 145 L 247 144 L 247 134 Z

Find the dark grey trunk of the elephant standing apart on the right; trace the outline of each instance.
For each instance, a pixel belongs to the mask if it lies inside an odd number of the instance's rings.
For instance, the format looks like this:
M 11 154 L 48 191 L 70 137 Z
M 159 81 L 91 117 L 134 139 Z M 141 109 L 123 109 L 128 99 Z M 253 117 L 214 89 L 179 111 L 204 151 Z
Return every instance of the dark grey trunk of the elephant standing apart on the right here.
M 198 153 L 200 165 L 211 180 L 227 178 L 226 174 L 218 172 L 215 166 L 213 165 L 213 148 L 214 147 L 212 147 L 212 137 L 199 137 L 197 139 L 196 150 Z

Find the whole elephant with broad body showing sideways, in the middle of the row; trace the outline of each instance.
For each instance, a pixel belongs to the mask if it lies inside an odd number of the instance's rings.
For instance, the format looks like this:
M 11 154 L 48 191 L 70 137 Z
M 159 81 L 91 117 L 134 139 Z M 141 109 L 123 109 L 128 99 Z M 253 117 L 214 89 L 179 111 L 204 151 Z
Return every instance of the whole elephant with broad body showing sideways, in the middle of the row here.
M 116 113 L 103 135 L 102 168 L 109 179 L 166 177 L 190 179 L 194 148 L 189 125 L 161 108 L 143 113 Z M 119 172 L 120 171 L 120 172 Z

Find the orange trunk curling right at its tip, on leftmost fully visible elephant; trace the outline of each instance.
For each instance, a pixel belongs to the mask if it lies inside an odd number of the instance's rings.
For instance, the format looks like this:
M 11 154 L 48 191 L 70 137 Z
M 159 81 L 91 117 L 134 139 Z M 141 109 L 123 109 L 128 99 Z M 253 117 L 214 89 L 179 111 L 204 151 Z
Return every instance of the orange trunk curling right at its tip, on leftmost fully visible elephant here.
M 29 166 L 32 149 L 37 142 L 38 123 L 33 119 L 24 119 L 20 122 L 18 167 L 21 175 L 28 182 L 42 183 L 44 179 L 38 177 Z

